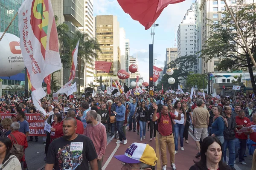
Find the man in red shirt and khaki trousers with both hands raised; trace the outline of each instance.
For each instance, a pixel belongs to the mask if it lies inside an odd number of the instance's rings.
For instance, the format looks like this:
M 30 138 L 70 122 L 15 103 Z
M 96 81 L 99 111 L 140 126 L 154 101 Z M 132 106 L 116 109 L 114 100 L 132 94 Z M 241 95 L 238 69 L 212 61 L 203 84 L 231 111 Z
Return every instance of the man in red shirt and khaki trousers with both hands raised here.
M 181 116 L 180 114 L 182 111 L 179 111 L 178 116 L 175 116 L 172 112 L 168 113 L 168 107 L 163 105 L 161 106 L 161 113 L 157 113 L 157 105 L 154 105 L 154 114 L 152 117 L 152 121 L 157 121 L 158 124 L 158 132 L 159 132 L 159 144 L 160 144 L 160 150 L 161 150 L 161 158 L 162 158 L 162 164 L 163 164 L 163 170 L 166 170 L 167 166 L 167 153 L 166 153 L 166 144 L 169 148 L 169 154 L 170 154 L 170 162 L 172 165 L 172 169 L 176 170 L 176 164 L 174 160 L 174 152 L 175 152 L 175 144 L 174 144 L 174 138 L 172 134 L 172 119 L 180 120 Z

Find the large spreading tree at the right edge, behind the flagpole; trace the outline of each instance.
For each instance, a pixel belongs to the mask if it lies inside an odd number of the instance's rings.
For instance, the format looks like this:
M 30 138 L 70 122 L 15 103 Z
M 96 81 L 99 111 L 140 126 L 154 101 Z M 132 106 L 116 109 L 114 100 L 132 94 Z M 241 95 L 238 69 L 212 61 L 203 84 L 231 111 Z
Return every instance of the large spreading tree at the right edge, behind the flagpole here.
M 246 4 L 244 0 L 237 0 L 236 6 L 230 6 L 236 21 L 241 28 L 241 32 L 256 58 L 256 5 L 255 3 Z M 253 76 L 253 63 L 249 53 L 241 40 L 235 23 L 226 10 L 222 12 L 222 19 L 218 23 L 210 25 L 210 31 L 206 46 L 203 46 L 201 57 L 207 62 L 212 59 L 219 59 L 217 69 L 220 70 L 239 70 L 248 68 L 253 92 L 256 94 L 256 85 Z

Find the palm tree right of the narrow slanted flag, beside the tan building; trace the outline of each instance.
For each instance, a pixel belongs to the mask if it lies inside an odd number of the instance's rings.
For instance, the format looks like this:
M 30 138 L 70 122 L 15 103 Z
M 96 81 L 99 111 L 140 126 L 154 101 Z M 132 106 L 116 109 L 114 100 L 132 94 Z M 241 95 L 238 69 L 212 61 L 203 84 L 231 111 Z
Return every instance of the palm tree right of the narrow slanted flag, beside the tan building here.
M 80 95 L 80 78 L 81 74 L 84 72 L 84 69 L 81 70 L 81 65 L 84 65 L 85 68 L 85 77 L 86 77 L 86 64 L 87 62 L 93 62 L 93 59 L 98 57 L 98 54 L 95 51 L 101 52 L 99 44 L 96 40 L 89 37 L 88 34 L 82 33 L 81 31 L 76 31 L 75 36 L 72 39 L 73 48 L 76 47 L 76 44 L 79 40 L 79 47 L 78 47 L 78 93 Z M 86 79 L 85 79 L 86 85 Z

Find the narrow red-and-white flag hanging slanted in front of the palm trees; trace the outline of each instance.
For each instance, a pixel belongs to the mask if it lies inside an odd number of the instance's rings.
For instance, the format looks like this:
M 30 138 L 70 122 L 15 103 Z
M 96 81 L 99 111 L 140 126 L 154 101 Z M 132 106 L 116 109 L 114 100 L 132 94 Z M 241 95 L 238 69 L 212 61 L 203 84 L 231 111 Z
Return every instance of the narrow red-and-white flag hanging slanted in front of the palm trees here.
M 79 46 L 79 40 L 76 44 L 76 48 L 72 52 L 72 63 L 71 63 L 71 68 L 70 68 L 70 77 L 68 79 L 68 82 L 60 89 L 57 91 L 57 94 L 60 93 L 67 93 L 67 91 L 70 90 L 71 85 L 73 80 L 75 79 L 76 76 L 76 65 L 77 65 L 77 53 L 78 53 L 78 46 Z

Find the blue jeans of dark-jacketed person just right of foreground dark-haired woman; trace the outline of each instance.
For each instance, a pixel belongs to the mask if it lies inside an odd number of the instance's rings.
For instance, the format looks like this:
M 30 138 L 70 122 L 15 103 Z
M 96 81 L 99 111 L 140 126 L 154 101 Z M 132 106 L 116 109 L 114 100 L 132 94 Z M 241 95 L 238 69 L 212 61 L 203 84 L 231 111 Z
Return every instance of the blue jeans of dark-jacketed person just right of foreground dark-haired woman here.
M 234 167 L 234 163 L 235 163 L 235 158 L 236 158 L 236 153 L 235 153 L 235 145 L 236 145 L 236 139 L 233 140 L 224 140 L 224 143 L 222 145 L 223 147 L 223 157 L 224 157 L 224 161 L 226 162 L 227 160 L 227 147 L 228 147 L 228 152 L 229 152 L 229 161 L 228 161 L 228 165 L 230 167 Z

